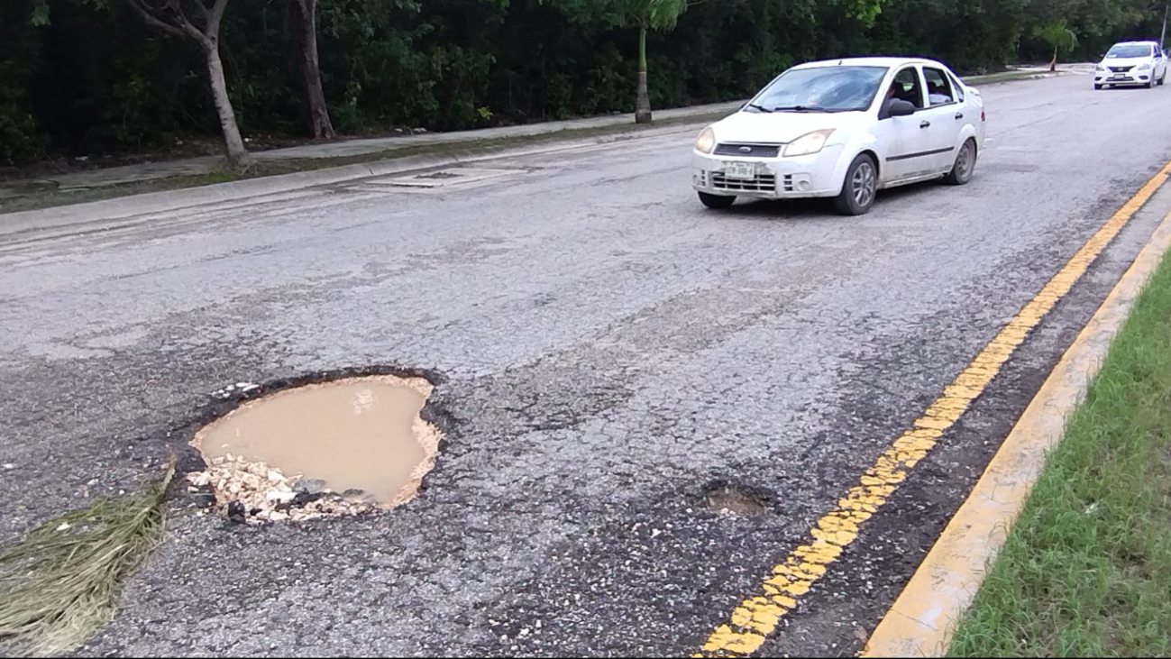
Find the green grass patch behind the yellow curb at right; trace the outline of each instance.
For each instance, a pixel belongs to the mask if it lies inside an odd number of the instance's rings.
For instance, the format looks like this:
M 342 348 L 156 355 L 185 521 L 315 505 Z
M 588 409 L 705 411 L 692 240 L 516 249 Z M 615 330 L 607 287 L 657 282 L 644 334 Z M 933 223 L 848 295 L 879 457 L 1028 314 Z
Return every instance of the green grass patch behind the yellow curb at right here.
M 1171 258 L 1071 416 L 950 657 L 1171 653 Z

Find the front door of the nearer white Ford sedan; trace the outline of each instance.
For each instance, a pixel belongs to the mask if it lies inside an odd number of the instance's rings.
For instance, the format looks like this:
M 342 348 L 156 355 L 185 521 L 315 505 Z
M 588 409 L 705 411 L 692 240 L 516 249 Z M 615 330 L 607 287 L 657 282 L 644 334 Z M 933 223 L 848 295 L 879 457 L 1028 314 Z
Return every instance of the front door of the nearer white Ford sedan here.
M 923 76 L 913 66 L 896 71 L 883 94 L 893 94 L 893 98 L 906 101 L 919 111 L 925 105 Z M 885 102 L 879 107 L 878 121 L 872 131 L 883 157 L 879 166 L 882 180 L 884 185 L 889 185 L 915 178 L 916 167 L 922 165 L 916 155 L 924 150 L 925 137 L 919 128 L 923 121 L 919 112 L 908 117 L 891 117 L 884 110 Z

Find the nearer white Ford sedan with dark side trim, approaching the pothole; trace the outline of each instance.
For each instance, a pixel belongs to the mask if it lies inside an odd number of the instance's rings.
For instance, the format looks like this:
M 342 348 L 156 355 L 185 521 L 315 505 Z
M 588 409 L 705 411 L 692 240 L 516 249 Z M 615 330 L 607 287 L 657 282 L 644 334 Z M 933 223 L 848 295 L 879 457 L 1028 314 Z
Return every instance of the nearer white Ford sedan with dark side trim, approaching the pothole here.
M 827 197 L 840 213 L 861 215 L 882 188 L 938 178 L 966 184 L 984 132 L 979 91 L 939 62 L 810 62 L 705 128 L 691 180 L 710 208 L 738 197 Z

